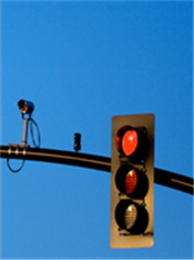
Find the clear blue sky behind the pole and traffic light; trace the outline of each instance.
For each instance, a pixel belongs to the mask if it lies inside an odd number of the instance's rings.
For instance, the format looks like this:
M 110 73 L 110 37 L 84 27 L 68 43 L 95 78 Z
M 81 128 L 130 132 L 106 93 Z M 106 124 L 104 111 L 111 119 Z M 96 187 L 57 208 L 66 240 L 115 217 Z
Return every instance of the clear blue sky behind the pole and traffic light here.
M 35 104 L 41 148 L 73 151 L 81 132 L 81 152 L 105 157 L 113 116 L 154 113 L 155 167 L 194 178 L 193 1 L 0 8 L 1 144 L 21 142 L 21 98 Z M 155 184 L 154 247 L 112 250 L 110 173 L 27 161 L 13 174 L 0 163 L 3 260 L 194 257 L 190 194 Z

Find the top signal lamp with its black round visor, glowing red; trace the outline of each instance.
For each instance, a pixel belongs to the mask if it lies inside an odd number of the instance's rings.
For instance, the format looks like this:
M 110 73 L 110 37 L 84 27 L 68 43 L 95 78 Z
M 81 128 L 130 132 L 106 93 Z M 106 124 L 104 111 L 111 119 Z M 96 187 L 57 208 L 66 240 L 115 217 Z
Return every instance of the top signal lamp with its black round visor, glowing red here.
M 150 146 L 145 128 L 124 126 L 118 131 L 115 142 L 118 151 L 134 163 L 146 159 Z

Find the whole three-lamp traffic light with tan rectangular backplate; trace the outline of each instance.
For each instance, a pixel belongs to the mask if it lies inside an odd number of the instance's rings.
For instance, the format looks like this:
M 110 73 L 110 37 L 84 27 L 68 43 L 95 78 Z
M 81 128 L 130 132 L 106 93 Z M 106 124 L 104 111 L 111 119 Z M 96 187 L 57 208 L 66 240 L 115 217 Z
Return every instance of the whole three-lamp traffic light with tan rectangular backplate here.
M 153 246 L 154 114 L 112 119 L 111 248 Z

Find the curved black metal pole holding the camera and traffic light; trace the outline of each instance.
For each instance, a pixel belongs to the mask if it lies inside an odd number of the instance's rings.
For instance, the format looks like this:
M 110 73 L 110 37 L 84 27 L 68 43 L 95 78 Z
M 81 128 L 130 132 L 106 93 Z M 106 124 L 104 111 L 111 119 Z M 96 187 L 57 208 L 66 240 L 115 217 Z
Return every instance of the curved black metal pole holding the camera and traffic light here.
M 111 172 L 111 158 L 71 151 L 0 146 L 0 158 L 45 161 Z M 155 183 L 194 194 L 194 179 L 155 168 Z

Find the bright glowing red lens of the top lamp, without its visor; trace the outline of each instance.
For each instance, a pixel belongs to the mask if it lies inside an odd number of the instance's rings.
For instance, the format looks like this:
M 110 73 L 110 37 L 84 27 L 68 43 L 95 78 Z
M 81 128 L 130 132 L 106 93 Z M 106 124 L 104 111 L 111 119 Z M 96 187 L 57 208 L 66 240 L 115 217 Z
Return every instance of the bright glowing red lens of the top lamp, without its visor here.
M 131 156 L 137 147 L 139 136 L 135 130 L 127 130 L 122 138 L 122 150 L 125 156 Z

